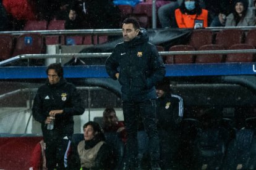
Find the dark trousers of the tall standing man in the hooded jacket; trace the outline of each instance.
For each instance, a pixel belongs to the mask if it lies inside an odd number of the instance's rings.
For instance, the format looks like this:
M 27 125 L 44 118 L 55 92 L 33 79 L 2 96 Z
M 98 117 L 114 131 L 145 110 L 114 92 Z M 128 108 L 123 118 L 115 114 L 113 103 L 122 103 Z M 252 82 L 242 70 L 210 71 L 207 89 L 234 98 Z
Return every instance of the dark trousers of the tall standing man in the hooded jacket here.
M 139 165 L 137 131 L 141 116 L 148 136 L 148 148 L 151 161 L 160 160 L 158 131 L 156 129 L 156 101 L 122 102 L 124 123 L 127 131 L 127 156 L 130 167 Z

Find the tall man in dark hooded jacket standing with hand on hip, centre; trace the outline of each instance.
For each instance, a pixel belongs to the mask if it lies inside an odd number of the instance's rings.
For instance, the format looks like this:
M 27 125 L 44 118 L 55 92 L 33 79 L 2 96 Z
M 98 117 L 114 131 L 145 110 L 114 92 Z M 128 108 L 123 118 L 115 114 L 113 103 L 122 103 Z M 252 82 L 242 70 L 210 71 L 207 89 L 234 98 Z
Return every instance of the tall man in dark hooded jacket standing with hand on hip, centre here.
M 106 70 L 121 84 L 129 168 L 139 167 L 137 127 L 141 116 L 149 139 L 151 169 L 160 169 L 155 84 L 164 78 L 163 60 L 148 42 L 147 31 L 134 18 L 124 20 L 122 34 L 124 42 L 117 44 L 106 60 Z

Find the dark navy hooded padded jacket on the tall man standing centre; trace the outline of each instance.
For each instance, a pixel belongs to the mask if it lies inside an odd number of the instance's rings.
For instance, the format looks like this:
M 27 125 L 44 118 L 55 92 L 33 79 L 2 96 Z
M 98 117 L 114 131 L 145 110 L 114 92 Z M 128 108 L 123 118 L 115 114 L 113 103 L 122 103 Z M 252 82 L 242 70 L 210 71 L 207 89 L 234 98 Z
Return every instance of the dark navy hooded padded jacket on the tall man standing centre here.
M 155 84 L 165 75 L 163 60 L 143 28 L 131 41 L 116 45 L 106 60 L 106 70 L 113 79 L 119 73 L 122 100 L 134 102 L 156 99 Z

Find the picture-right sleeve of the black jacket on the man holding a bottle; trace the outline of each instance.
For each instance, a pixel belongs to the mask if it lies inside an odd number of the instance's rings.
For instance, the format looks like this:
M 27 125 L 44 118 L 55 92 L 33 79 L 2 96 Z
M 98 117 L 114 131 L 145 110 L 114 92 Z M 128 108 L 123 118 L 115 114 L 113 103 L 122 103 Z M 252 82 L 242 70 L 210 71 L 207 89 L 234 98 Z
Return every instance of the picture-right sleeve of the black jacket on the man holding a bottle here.
M 71 107 L 64 108 L 62 116 L 82 115 L 85 111 L 85 103 L 83 102 L 79 92 L 77 92 L 77 88 L 74 85 L 72 85 L 70 95 Z

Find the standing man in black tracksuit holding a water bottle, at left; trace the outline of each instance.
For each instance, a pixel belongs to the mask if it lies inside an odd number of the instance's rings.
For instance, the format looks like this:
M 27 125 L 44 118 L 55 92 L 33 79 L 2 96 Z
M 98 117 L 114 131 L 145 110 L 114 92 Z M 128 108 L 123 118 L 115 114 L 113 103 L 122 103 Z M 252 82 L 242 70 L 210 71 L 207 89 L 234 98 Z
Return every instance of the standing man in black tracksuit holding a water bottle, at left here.
M 61 64 L 49 65 L 46 74 L 47 82 L 35 95 L 32 113 L 35 120 L 41 123 L 47 168 L 54 169 L 58 164 L 57 169 L 64 169 L 74 132 L 73 116 L 82 115 L 85 108 L 74 84 L 67 83 L 63 78 Z M 53 129 L 48 126 L 51 123 L 54 123 Z

